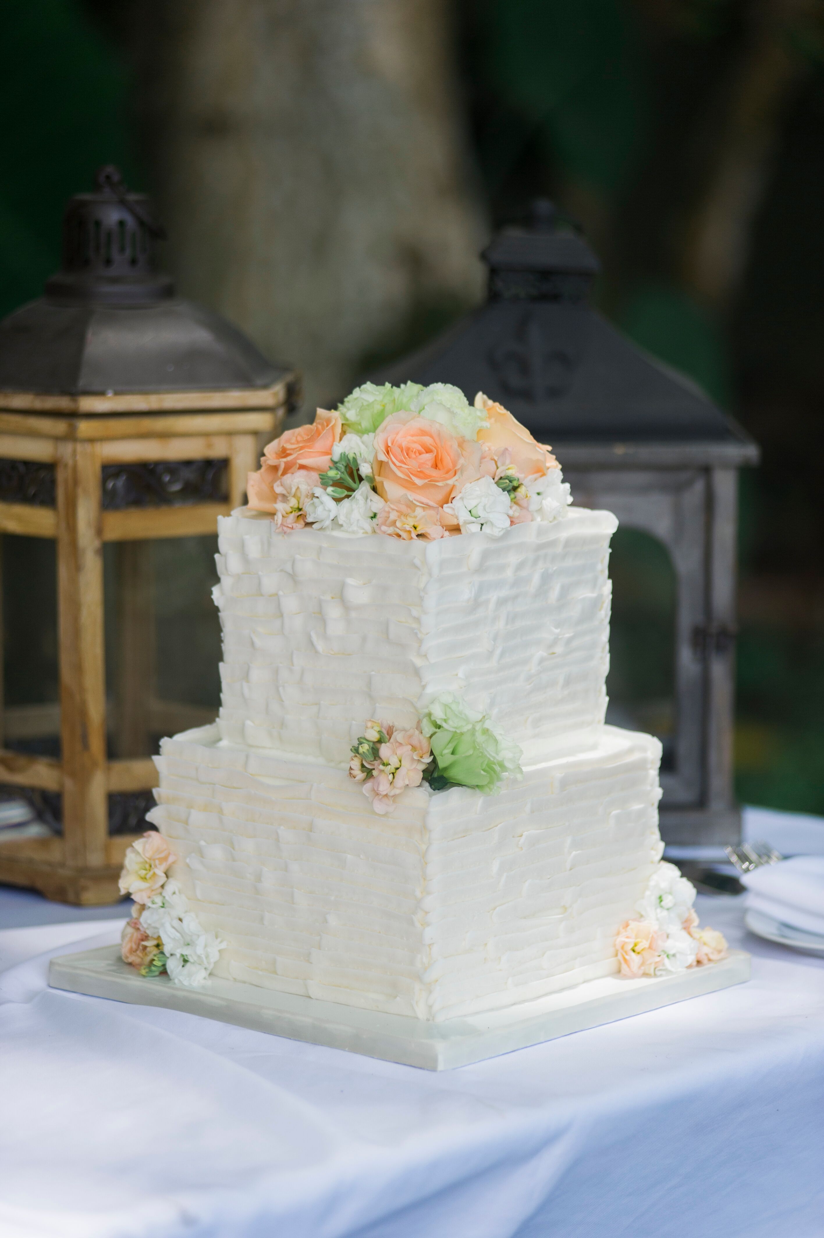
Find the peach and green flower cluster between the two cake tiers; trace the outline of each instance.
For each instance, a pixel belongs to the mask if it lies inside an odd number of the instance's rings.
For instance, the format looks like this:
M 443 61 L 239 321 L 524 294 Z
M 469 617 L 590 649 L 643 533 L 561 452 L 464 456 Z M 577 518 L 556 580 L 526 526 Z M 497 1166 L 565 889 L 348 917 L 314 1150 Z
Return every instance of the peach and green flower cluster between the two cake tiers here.
M 349 777 L 363 782 L 375 812 L 393 812 L 408 786 L 429 782 L 432 791 L 470 786 L 484 795 L 507 777 L 520 777 L 522 750 L 493 730 L 484 714 L 456 692 L 442 692 L 429 704 L 420 730 L 397 730 L 370 718 L 352 745 Z

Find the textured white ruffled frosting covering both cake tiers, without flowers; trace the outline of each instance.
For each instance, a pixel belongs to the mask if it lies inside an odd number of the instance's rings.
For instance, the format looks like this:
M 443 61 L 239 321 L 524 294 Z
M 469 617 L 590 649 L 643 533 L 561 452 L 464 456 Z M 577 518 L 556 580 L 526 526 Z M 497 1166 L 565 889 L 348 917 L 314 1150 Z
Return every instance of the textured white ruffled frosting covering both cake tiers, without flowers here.
M 214 974 L 419 1019 L 611 974 L 662 853 L 660 745 L 603 725 L 608 513 L 434 542 L 221 520 L 218 723 L 164 740 L 151 820 Z M 367 718 L 460 692 L 524 749 L 501 794 L 347 775 Z

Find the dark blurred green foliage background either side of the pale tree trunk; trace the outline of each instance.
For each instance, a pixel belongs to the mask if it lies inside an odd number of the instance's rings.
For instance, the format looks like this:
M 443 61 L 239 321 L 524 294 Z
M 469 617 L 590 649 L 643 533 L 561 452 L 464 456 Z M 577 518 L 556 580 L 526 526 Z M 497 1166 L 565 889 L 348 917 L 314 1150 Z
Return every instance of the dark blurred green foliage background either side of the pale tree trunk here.
M 4 313 L 58 265 L 64 202 L 98 165 L 145 186 L 126 7 L 0 0 Z M 737 790 L 824 812 L 824 7 L 455 0 L 454 19 L 491 223 L 555 198 L 603 261 L 603 312 L 762 446 L 742 479 Z M 613 566 L 613 687 L 647 676 L 664 701 L 669 566 L 632 536 Z

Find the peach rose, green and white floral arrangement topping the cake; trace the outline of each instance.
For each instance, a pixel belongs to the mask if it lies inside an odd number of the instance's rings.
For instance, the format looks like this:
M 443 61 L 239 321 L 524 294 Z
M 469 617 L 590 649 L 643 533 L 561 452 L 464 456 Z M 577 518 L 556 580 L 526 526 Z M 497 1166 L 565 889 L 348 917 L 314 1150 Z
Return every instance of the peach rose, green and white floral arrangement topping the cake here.
M 280 530 L 434 540 L 551 521 L 572 501 L 558 461 L 502 405 L 449 383 L 356 387 L 286 430 L 249 473 L 249 506 Z

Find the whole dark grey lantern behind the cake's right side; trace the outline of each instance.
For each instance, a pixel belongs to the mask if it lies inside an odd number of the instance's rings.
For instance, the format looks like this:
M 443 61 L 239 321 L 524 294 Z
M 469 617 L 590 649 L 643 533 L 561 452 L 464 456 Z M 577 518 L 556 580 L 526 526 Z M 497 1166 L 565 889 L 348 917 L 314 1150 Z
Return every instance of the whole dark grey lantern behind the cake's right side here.
M 682 374 L 590 306 L 598 261 L 548 202 L 484 250 L 484 306 L 377 381 L 484 391 L 551 443 L 575 503 L 663 542 L 677 578 L 675 734 L 662 834 L 740 836 L 732 796 L 737 469 L 758 448 Z

